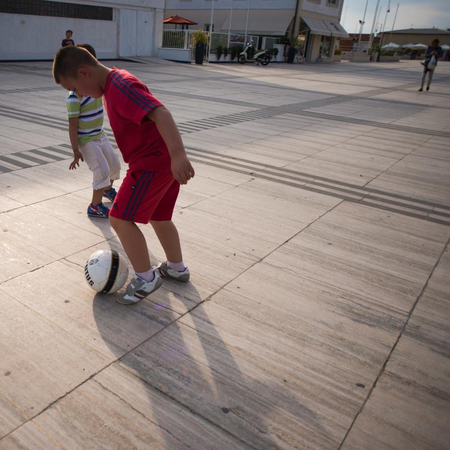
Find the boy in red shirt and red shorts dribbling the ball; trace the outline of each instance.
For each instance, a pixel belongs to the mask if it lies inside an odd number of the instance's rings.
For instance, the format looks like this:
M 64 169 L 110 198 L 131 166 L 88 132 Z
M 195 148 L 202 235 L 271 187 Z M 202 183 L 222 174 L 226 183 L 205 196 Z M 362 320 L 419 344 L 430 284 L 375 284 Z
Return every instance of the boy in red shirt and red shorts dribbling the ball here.
M 181 136 L 169 111 L 147 86 L 126 70 L 110 69 L 88 51 L 63 47 L 53 61 L 53 77 L 80 96 L 104 96 L 111 128 L 127 174 L 110 210 L 110 222 L 135 270 L 118 301 L 133 304 L 156 291 L 160 276 L 188 281 L 178 232 L 171 221 L 179 185 L 194 176 Z M 152 267 L 137 223 L 150 223 L 167 261 Z

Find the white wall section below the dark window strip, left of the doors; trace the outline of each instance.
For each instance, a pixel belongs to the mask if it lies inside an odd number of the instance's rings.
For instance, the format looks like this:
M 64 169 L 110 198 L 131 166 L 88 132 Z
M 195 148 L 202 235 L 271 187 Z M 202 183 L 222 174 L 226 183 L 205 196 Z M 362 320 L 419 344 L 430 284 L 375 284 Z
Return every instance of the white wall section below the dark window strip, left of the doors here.
M 115 21 L 0 14 L 0 59 L 53 59 L 67 29 L 75 44 L 91 44 L 99 58 L 117 56 Z

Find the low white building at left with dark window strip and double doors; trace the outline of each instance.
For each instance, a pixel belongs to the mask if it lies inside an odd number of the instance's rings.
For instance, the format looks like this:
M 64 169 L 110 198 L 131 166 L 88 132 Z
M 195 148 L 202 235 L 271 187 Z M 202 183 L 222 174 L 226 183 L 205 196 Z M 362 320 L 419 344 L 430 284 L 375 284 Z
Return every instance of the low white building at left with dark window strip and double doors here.
M 156 55 L 164 0 L 0 2 L 0 60 L 52 59 L 66 30 L 99 58 Z

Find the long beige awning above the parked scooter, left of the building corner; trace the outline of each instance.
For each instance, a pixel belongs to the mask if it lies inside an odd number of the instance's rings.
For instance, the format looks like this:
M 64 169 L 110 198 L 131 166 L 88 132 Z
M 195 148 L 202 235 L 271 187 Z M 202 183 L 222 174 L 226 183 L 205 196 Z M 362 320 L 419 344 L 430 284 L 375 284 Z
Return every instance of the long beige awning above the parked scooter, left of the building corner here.
M 293 14 L 291 11 L 251 11 L 248 17 L 248 35 L 262 34 L 282 36 L 288 30 Z M 245 33 L 245 23 L 247 21 L 247 11 L 234 10 L 231 18 L 231 32 L 238 34 Z M 228 16 L 221 27 L 222 33 L 227 33 L 230 26 L 230 16 Z

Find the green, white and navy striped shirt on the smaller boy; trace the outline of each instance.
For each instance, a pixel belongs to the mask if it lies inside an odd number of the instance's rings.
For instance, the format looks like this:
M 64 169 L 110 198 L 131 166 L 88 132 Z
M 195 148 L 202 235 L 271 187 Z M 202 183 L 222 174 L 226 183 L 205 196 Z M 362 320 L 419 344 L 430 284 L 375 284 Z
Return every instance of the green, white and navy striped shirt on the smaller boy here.
M 80 97 L 69 91 L 66 104 L 69 118 L 78 118 L 78 145 L 87 144 L 105 134 L 102 98 Z

